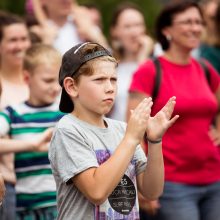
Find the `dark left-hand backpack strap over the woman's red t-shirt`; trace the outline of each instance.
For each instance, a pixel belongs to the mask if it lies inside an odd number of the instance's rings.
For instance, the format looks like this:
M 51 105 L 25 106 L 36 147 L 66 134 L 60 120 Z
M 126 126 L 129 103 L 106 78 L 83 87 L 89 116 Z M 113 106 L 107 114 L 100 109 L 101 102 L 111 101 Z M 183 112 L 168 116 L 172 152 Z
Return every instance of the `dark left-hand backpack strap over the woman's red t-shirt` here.
M 161 65 L 160 61 L 157 57 L 152 58 L 152 61 L 155 66 L 155 84 L 154 84 L 154 89 L 153 89 L 153 94 L 152 94 L 152 99 L 155 100 L 157 98 L 159 89 L 160 89 L 160 82 L 161 82 Z

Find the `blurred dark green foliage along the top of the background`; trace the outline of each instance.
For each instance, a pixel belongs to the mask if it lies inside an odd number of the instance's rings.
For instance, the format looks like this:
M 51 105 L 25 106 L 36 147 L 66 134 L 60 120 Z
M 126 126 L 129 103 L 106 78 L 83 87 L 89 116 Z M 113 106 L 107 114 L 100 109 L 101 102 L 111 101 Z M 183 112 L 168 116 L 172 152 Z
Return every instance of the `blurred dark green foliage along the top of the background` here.
M 53 1 L 53 0 L 48 0 Z M 117 4 L 128 2 L 129 0 L 78 0 L 79 4 L 93 3 L 97 5 L 103 16 L 104 33 L 108 35 L 109 24 L 111 21 L 112 11 Z M 147 29 L 153 34 L 155 17 L 160 10 L 161 3 L 159 0 L 130 0 L 137 4 L 144 13 Z M 25 0 L 0 0 L 0 9 L 10 11 L 19 15 L 25 15 Z

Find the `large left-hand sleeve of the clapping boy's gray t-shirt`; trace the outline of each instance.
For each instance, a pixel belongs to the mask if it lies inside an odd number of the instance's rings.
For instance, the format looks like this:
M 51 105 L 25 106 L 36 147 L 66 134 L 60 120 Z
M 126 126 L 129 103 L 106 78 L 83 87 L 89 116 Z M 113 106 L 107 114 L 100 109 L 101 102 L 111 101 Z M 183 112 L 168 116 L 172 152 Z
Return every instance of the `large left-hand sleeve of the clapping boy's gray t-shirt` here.
M 67 183 L 90 167 L 98 167 L 96 154 L 80 133 L 57 129 L 52 137 L 49 159 L 54 175 Z

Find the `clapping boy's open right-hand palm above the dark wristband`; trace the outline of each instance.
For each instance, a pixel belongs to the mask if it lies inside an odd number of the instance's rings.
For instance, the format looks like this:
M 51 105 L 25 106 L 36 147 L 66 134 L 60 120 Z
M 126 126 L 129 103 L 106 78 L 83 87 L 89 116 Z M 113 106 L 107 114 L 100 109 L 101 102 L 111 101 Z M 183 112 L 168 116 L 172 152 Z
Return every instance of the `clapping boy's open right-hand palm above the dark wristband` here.
M 175 104 L 176 97 L 172 97 L 154 117 L 149 117 L 146 129 L 149 140 L 157 141 L 162 139 L 166 130 L 179 118 L 179 115 L 171 118 Z

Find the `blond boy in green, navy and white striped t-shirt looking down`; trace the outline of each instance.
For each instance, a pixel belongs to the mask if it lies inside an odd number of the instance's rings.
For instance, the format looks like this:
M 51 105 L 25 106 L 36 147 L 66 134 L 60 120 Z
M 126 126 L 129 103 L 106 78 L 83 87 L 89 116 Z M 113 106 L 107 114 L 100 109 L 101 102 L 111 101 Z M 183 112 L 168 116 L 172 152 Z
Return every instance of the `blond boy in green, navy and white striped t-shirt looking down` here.
M 63 116 L 55 102 L 60 92 L 57 83 L 60 62 L 61 55 L 51 46 L 36 44 L 27 50 L 24 75 L 30 96 L 26 102 L 9 106 L 0 114 L 0 134 L 9 135 L 12 144 L 15 140 L 18 146 L 21 140 L 39 142 L 44 132 Z M 23 152 L 15 154 L 16 219 L 54 219 L 57 213 L 56 184 L 48 153 L 39 152 L 34 145 L 26 145 Z M 14 152 L 21 151 L 20 147 Z

